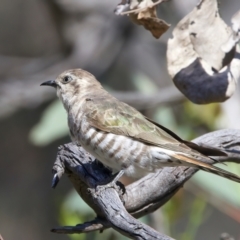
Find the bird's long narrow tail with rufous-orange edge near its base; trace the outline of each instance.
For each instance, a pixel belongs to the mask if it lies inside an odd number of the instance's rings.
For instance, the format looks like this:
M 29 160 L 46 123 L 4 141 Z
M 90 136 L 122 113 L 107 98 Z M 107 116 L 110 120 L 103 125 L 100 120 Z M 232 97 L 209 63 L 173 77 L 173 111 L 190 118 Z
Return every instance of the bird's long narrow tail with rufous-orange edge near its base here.
M 237 175 L 235 175 L 233 173 L 230 173 L 228 171 L 225 171 L 225 170 L 223 170 L 221 168 L 212 166 L 210 164 L 201 162 L 201 161 L 196 160 L 196 159 L 194 159 L 192 157 L 189 157 L 189 156 L 186 156 L 186 155 L 182 155 L 182 154 L 176 154 L 176 155 L 174 155 L 174 157 L 176 157 L 177 159 L 182 161 L 183 165 L 197 167 L 197 168 L 199 168 L 201 170 L 204 170 L 206 172 L 210 172 L 210 173 L 216 174 L 218 176 L 221 176 L 221 177 L 227 178 L 229 180 L 232 180 L 234 182 L 240 183 L 240 177 L 239 176 L 237 176 Z

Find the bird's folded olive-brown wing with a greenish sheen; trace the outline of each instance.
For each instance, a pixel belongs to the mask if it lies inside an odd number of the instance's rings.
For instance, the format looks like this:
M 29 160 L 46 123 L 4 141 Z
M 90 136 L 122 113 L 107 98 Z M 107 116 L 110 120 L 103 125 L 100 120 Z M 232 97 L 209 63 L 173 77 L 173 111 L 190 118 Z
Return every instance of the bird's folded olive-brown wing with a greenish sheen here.
M 93 97 L 85 102 L 84 112 L 87 122 L 101 131 L 174 151 L 190 150 L 176 134 L 149 121 L 136 109 L 115 98 Z

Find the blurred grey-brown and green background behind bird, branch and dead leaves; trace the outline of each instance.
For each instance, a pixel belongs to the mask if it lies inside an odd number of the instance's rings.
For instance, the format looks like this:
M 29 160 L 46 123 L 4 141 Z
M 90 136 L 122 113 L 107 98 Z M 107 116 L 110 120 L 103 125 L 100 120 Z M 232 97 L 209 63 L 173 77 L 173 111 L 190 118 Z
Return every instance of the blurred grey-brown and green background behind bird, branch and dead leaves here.
M 167 40 L 197 2 L 160 5 L 159 17 L 172 26 L 156 40 L 127 16 L 114 14 L 118 1 L 1 1 L 0 234 L 5 240 L 125 239 L 112 230 L 71 236 L 50 232 L 94 217 L 66 176 L 51 189 L 57 147 L 70 138 L 55 91 L 39 85 L 64 70 L 90 71 L 121 100 L 188 140 L 220 128 L 240 128 L 239 89 L 226 103 L 197 106 L 168 76 Z M 219 7 L 229 24 L 240 3 L 222 0 Z M 228 170 L 240 174 L 236 164 L 228 164 Z M 199 172 L 142 221 L 180 240 L 219 239 L 223 232 L 238 240 L 240 186 Z

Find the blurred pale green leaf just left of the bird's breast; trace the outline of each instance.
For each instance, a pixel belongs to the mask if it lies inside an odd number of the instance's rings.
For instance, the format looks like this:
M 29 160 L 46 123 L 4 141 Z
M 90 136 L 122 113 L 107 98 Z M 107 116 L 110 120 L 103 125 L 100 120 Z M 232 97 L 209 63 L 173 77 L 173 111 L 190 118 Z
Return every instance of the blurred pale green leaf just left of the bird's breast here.
M 30 141 L 45 146 L 68 134 L 67 114 L 59 100 L 51 103 L 29 134 Z

